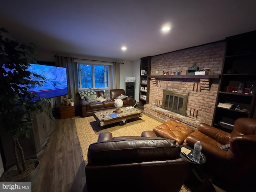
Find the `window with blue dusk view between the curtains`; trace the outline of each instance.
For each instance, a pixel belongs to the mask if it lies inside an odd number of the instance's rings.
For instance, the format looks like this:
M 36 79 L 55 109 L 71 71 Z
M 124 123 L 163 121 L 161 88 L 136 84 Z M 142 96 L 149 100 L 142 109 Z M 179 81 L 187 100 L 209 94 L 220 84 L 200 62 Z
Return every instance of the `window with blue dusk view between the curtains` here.
M 109 65 L 78 63 L 79 89 L 108 88 Z

